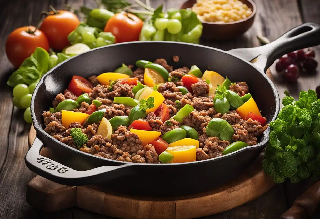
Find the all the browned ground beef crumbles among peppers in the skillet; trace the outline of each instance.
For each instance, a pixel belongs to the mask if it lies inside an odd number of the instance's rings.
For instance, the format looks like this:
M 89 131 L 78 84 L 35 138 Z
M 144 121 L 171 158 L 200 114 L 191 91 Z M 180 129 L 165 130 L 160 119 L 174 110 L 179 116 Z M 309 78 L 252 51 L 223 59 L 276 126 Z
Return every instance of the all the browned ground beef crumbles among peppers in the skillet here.
M 174 56 L 173 61 L 178 62 L 179 57 Z M 245 121 L 241 119 L 235 110 L 231 110 L 223 115 L 217 113 L 213 107 L 213 97 L 207 97 L 210 87 L 205 80 L 199 80 L 196 84 L 191 85 L 192 92 L 182 95 L 177 86 L 183 86 L 181 77 L 188 74 L 190 69 L 188 67 L 172 69 L 172 66 L 168 65 L 164 59 L 157 59 L 154 63 L 162 65 L 167 69 L 170 72 L 170 78 L 172 78 L 172 82 L 166 82 L 158 87 L 158 92 L 164 96 L 164 103 L 169 108 L 170 118 L 186 104 L 193 106 L 195 110 L 183 118 L 182 123 L 174 119 L 169 119 L 170 122 L 163 122 L 154 112 L 148 113 L 144 120 L 148 121 L 152 131 L 161 132 L 163 135 L 172 129 L 179 128 L 181 125 L 193 127 L 199 134 L 199 148 L 196 149 L 196 160 L 222 156 L 222 151 L 230 144 L 230 142 L 220 141 L 218 137 L 209 136 L 204 133 L 206 126 L 212 118 L 225 119 L 231 124 L 234 129 L 233 141 L 243 141 L 249 145 L 258 143 L 257 137 L 266 130 L 268 124 L 261 126 L 258 121 L 252 121 L 251 118 Z M 132 65 L 128 65 L 128 67 L 133 70 L 132 77 L 137 77 L 143 84 L 144 69 L 137 68 L 134 70 Z M 101 102 L 101 106 L 98 109 L 106 110 L 104 112 L 105 118 L 111 119 L 115 116 L 129 115 L 131 108 L 123 104 L 115 104 L 113 103 L 113 99 L 119 96 L 134 98 L 134 94 L 132 93 L 133 85 L 122 84 L 120 81 L 117 81 L 111 87 L 109 85 L 100 85 L 95 75 L 89 77 L 88 80 L 94 86 L 92 92 L 88 95 L 91 100 L 96 99 Z M 229 89 L 240 96 L 249 93 L 249 87 L 246 82 L 234 83 L 230 85 Z M 52 106 L 56 108 L 61 101 L 66 99 L 76 100 L 76 98 L 75 94 L 69 90 L 65 90 L 63 94 L 59 93 L 55 97 Z M 89 106 L 90 104 L 82 102 L 74 111 L 85 112 Z M 84 125 L 71 123 L 66 128 L 61 124 L 61 112 L 52 113 L 47 111 L 43 113 L 43 118 L 44 131 L 70 147 L 77 148 L 70 135 L 71 128 L 81 128 L 82 132 L 88 137 L 88 142 L 80 147 L 79 150 L 81 151 L 98 157 L 125 162 L 160 163 L 153 145 L 147 144 L 143 146 L 138 135 L 130 132 L 128 127 L 119 126 L 111 135 L 111 139 L 108 139 L 96 134 L 100 122 Z

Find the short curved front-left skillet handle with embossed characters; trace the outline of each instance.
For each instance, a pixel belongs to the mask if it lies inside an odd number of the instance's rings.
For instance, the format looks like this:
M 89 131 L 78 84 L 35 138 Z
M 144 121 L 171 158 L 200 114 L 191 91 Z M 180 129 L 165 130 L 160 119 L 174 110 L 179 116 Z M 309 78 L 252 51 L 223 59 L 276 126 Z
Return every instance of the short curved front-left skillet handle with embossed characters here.
M 36 137 L 25 156 L 26 165 L 36 174 L 63 185 L 89 185 L 104 182 L 133 173 L 130 163 L 118 166 L 100 166 L 91 170 L 78 171 L 64 166 L 39 154 L 43 142 Z

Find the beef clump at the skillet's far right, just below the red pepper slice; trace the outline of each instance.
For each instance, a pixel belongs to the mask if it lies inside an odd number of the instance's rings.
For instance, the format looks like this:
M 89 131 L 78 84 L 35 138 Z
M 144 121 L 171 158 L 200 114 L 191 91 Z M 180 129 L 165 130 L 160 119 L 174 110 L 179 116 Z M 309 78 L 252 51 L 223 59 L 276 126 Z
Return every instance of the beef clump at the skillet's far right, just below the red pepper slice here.
M 232 140 L 246 142 L 249 145 L 255 145 L 258 143 L 257 136 L 261 135 L 267 128 L 266 126 L 261 126 L 258 121 L 253 121 L 249 118 L 242 125 L 236 124 L 233 127 L 235 134 L 232 137 Z

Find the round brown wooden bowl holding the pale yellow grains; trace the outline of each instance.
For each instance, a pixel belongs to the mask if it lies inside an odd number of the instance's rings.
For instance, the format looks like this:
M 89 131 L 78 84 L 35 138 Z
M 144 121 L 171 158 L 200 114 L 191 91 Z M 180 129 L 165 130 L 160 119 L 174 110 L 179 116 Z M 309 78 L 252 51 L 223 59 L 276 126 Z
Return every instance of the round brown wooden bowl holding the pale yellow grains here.
M 238 20 L 229 23 L 214 23 L 201 21 L 203 25 L 202 37 L 211 40 L 227 40 L 236 38 L 246 32 L 254 21 L 256 15 L 256 5 L 252 0 L 240 0 L 252 10 L 252 14 L 243 20 Z M 181 4 L 180 9 L 191 8 L 196 3 L 196 0 L 187 0 Z

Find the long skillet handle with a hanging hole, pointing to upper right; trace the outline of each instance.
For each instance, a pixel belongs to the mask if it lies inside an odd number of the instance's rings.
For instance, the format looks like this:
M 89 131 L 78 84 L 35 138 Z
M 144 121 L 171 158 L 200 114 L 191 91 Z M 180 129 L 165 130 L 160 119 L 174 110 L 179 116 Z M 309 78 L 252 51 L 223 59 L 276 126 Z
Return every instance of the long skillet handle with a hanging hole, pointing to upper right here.
M 267 45 L 254 48 L 232 49 L 228 52 L 247 61 L 252 61 L 261 55 L 254 64 L 266 72 L 272 63 L 282 55 L 319 44 L 320 25 L 308 22 L 292 28 Z

